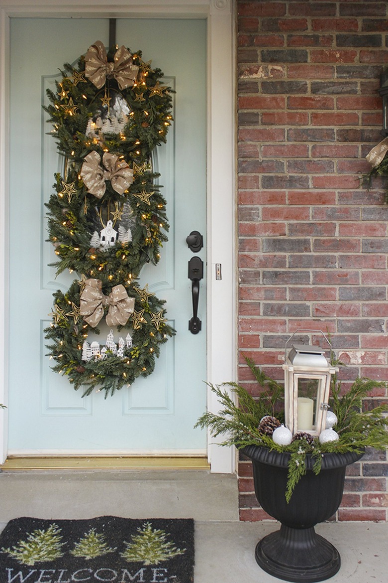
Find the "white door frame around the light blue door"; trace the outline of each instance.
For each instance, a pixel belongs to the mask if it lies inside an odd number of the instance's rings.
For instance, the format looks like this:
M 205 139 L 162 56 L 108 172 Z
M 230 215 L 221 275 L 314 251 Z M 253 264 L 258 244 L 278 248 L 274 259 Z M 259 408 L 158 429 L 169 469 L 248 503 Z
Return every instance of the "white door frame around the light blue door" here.
M 11 17 L 206 18 L 208 30 L 207 381 L 236 380 L 236 201 L 233 0 L 0 0 L 0 403 L 8 402 L 9 19 Z M 31 41 L 32 45 L 33 41 Z M 28 55 L 26 55 L 28 58 Z M 216 264 L 222 280 L 215 279 Z M 21 363 L 22 365 L 22 363 Z M 208 409 L 216 411 L 208 391 Z M 0 463 L 8 415 L 0 409 Z M 208 438 L 212 472 L 232 473 L 233 448 Z

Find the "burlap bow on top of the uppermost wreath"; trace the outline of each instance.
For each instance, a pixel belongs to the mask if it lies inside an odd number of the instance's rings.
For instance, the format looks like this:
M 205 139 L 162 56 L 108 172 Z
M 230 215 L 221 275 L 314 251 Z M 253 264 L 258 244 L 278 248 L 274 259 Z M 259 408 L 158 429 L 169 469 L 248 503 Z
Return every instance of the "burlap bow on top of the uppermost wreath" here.
M 116 79 L 121 90 L 131 87 L 137 77 L 138 66 L 133 65 L 132 55 L 124 46 L 108 62 L 104 44 L 95 41 L 85 55 L 85 75 L 97 89 L 104 87 L 106 79 Z

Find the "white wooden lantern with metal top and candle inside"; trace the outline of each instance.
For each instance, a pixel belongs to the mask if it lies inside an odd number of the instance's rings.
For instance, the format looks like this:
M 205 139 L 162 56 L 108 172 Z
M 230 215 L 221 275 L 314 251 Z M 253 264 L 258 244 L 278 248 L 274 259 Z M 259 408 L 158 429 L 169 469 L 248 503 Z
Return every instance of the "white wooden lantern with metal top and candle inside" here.
M 301 331 L 297 330 L 293 336 L 297 332 Z M 331 351 L 329 340 L 323 332 L 321 334 Z M 339 369 L 330 365 L 325 357 L 325 349 L 320 346 L 293 344 L 287 354 L 287 344 L 293 336 L 286 342 L 283 364 L 286 427 L 293 435 L 305 431 L 312 436 L 319 436 L 326 427 L 330 378 Z

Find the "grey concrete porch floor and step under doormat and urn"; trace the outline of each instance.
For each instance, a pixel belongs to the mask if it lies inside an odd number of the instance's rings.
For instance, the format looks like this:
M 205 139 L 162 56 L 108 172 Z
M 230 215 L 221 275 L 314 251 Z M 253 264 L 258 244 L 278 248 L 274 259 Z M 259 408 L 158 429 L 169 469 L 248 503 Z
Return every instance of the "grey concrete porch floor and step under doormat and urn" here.
M 194 518 L 194 583 L 275 583 L 255 545 L 276 522 L 239 522 L 237 480 L 207 470 L 0 473 L 0 530 L 12 518 Z M 386 583 L 388 524 L 325 523 L 316 532 L 341 555 L 333 583 Z

